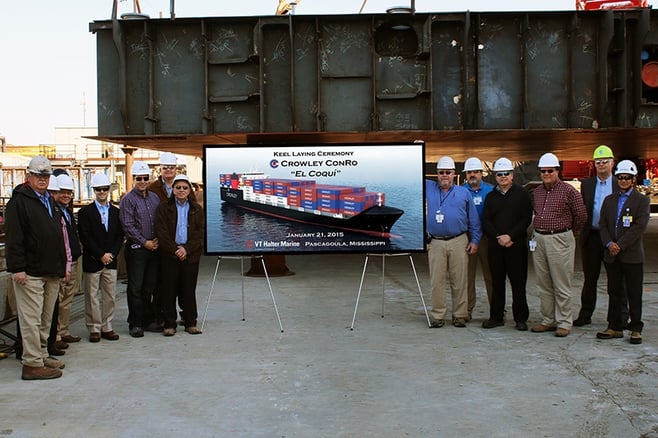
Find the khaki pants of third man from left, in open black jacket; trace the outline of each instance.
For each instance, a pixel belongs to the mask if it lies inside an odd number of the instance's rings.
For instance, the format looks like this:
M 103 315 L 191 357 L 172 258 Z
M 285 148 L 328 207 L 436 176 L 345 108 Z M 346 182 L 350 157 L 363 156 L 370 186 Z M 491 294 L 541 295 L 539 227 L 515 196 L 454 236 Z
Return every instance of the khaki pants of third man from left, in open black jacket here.
M 116 285 L 116 269 L 103 268 L 98 272 L 84 273 L 85 322 L 89 333 L 112 330 Z

